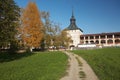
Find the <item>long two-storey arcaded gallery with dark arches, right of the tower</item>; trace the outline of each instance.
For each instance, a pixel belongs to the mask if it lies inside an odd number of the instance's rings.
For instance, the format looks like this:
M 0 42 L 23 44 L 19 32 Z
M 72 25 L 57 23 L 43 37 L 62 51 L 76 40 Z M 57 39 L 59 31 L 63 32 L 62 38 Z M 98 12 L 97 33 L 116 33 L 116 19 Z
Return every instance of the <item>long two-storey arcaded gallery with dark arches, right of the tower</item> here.
M 80 44 L 120 46 L 120 32 L 80 35 Z

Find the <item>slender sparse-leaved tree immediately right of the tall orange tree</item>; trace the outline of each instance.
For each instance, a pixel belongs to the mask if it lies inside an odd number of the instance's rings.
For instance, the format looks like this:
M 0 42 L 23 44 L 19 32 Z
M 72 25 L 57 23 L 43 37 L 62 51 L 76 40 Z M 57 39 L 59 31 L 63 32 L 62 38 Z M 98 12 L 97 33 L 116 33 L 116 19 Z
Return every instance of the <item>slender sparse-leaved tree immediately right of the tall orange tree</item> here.
M 49 12 L 41 12 L 44 22 L 44 40 L 43 44 L 46 48 L 53 45 L 53 24 L 49 19 Z

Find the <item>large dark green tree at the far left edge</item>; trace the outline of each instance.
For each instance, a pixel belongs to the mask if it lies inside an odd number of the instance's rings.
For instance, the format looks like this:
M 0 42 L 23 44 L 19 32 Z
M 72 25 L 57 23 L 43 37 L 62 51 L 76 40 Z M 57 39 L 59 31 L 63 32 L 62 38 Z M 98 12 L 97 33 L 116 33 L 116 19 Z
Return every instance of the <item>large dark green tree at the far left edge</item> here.
M 12 46 L 17 33 L 20 9 L 14 0 L 0 0 L 0 45 Z M 12 48 L 12 47 L 11 47 Z

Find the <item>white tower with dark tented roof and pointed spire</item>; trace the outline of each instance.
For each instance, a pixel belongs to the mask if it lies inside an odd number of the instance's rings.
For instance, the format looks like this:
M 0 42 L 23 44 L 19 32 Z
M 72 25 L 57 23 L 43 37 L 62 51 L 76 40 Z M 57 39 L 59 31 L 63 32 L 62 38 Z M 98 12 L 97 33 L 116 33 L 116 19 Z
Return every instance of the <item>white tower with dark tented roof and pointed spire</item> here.
M 80 35 L 83 34 L 83 30 L 77 27 L 73 11 L 70 18 L 70 25 L 66 28 L 66 30 L 68 36 L 70 36 L 72 40 L 70 46 L 77 47 L 77 45 L 80 43 Z

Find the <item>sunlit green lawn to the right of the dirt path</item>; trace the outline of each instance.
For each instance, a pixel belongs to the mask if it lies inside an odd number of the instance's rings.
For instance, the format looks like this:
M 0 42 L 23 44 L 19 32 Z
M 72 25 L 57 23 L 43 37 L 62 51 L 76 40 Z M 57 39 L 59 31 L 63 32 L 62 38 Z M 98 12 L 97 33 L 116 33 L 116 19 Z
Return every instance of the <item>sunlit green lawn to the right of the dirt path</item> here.
M 93 68 L 100 80 L 120 80 L 120 48 L 75 50 Z

